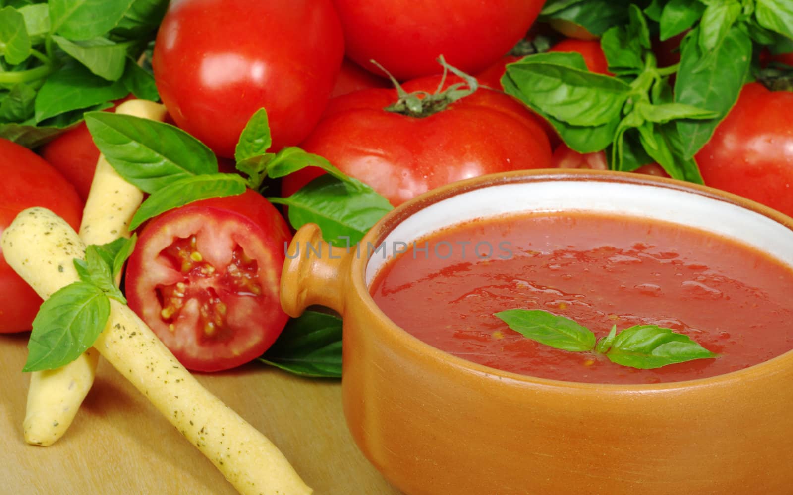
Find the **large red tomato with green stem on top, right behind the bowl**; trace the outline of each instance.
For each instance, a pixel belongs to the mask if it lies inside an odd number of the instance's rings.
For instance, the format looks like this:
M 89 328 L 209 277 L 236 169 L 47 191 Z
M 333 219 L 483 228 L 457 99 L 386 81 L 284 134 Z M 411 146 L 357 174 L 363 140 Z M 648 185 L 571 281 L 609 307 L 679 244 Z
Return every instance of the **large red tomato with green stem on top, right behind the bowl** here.
M 432 92 L 439 82 L 439 76 L 422 78 L 404 89 Z M 550 143 L 542 126 L 519 101 L 500 91 L 477 89 L 423 117 L 384 110 L 395 101 L 396 89 L 334 98 L 301 147 L 328 158 L 394 206 L 469 177 L 550 166 Z M 284 196 L 319 174 L 308 168 L 285 177 Z

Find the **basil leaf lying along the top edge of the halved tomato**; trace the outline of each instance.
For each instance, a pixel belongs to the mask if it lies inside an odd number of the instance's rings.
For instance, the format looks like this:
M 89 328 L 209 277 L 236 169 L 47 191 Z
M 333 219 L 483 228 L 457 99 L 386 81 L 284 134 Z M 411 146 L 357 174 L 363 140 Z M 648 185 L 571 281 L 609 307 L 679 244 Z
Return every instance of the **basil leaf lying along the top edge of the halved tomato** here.
M 151 193 L 129 222 L 136 229 L 147 219 L 198 200 L 237 196 L 245 192 L 245 179 L 234 173 L 205 173 L 182 177 Z

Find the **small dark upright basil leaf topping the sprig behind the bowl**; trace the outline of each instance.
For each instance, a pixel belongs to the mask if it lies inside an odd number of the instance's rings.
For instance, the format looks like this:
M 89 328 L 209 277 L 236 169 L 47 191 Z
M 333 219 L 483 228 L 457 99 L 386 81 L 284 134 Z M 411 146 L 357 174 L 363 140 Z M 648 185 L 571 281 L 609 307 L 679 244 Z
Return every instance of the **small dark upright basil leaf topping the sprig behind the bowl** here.
M 600 39 L 608 68 L 615 74 L 641 74 L 645 52 L 650 48 L 649 27 L 642 10 L 631 5 L 629 15 L 628 25 L 615 26 L 604 32 Z

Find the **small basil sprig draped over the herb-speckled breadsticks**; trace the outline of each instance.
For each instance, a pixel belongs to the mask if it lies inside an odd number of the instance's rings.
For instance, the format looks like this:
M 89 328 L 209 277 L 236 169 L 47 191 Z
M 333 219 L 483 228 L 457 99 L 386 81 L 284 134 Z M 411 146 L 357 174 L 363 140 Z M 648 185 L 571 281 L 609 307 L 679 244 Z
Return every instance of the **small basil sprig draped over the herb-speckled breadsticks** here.
M 52 370 L 76 360 L 94 345 L 110 316 L 110 299 L 126 304 L 116 280 L 132 253 L 136 237 L 120 238 L 86 248 L 86 259 L 75 258 L 80 277 L 41 304 L 28 342 L 22 371 Z

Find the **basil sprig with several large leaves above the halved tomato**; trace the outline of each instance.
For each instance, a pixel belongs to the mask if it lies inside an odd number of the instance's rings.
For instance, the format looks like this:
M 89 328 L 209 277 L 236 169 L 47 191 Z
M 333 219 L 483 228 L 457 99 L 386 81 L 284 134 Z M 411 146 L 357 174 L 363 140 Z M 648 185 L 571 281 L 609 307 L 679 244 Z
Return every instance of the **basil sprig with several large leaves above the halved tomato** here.
M 261 190 L 265 179 L 283 177 L 307 166 L 328 172 L 288 198 L 270 201 L 289 206 L 294 228 L 317 223 L 326 240 L 338 246 L 358 242 L 393 207 L 370 186 L 347 177 L 328 160 L 298 147 L 278 153 L 265 109 L 255 112 L 237 143 L 236 173 L 219 173 L 217 158 L 204 143 L 170 124 L 107 112 L 86 113 L 94 143 L 113 169 L 150 196 L 132 217 L 135 229 L 147 219 L 197 200 L 236 196 L 245 188 Z

